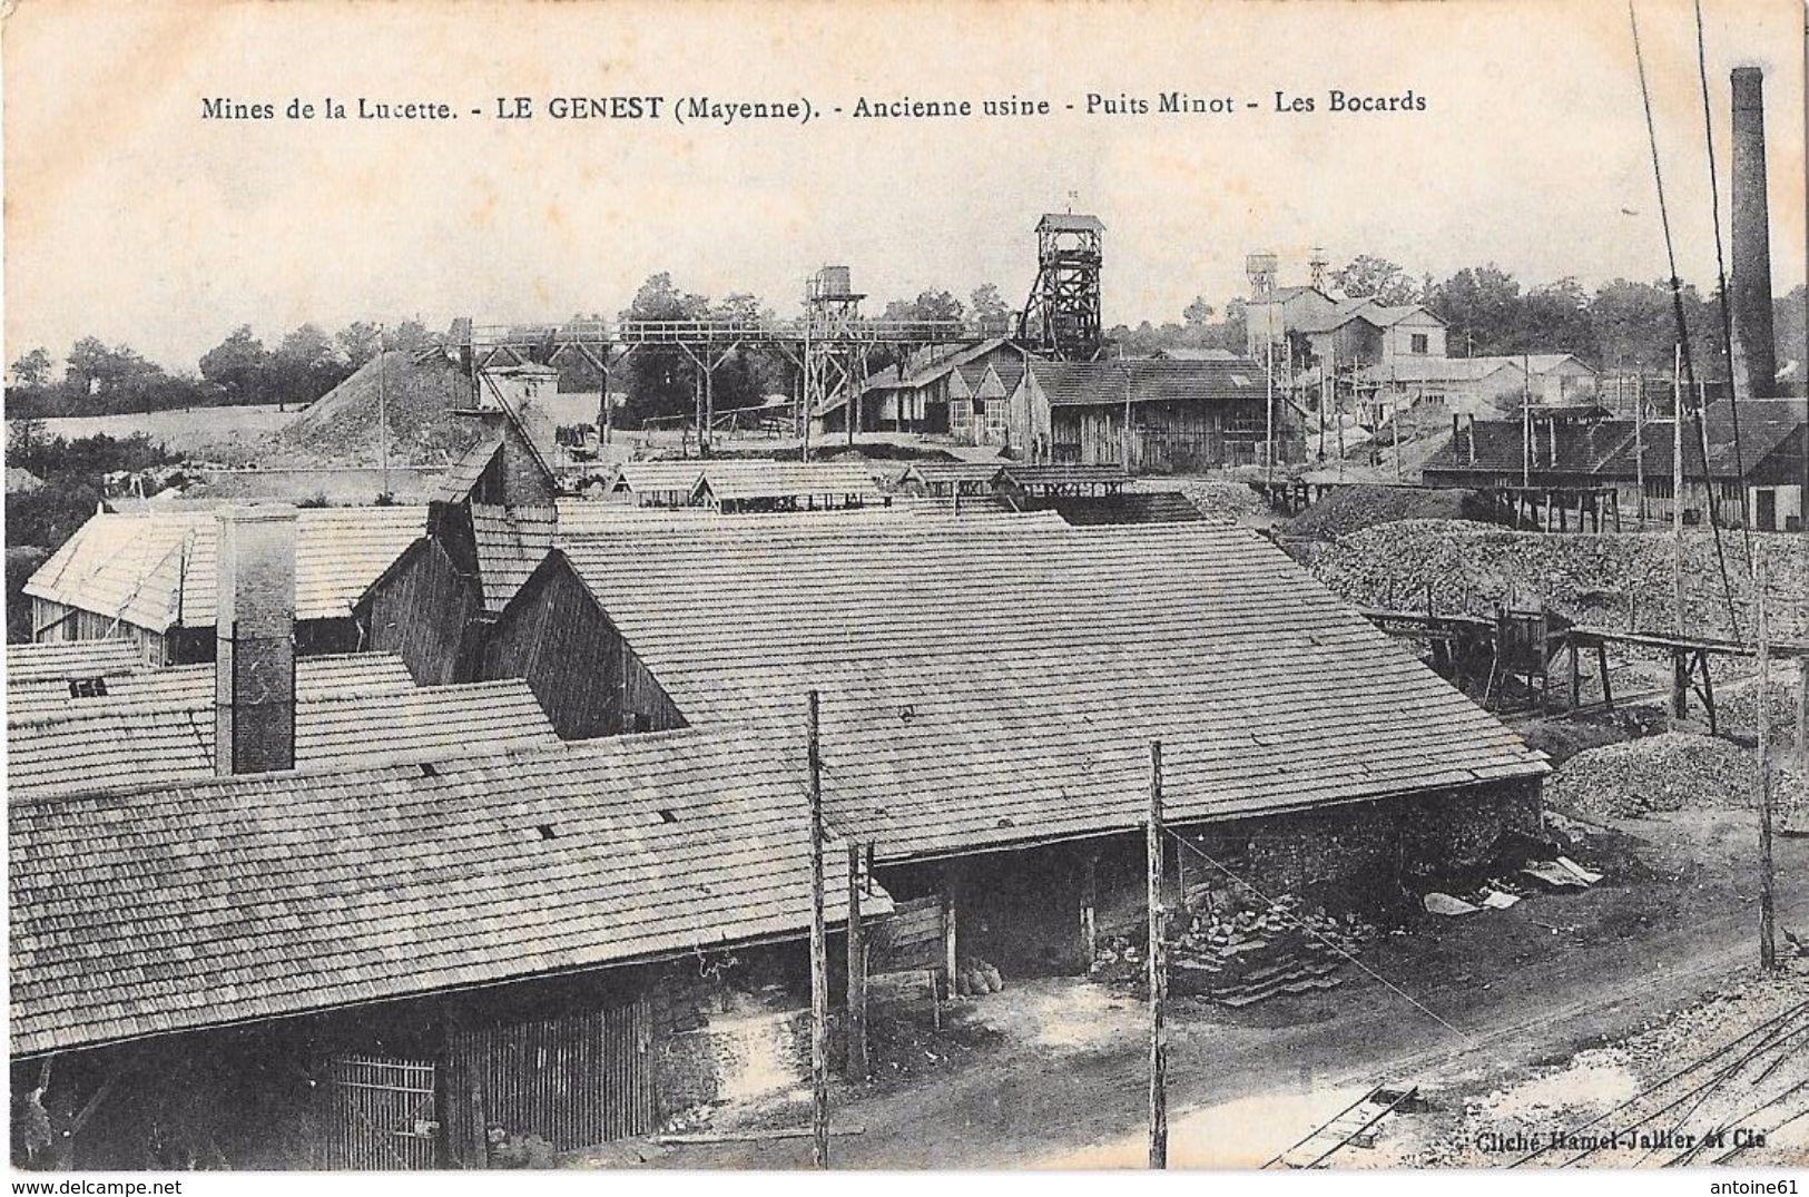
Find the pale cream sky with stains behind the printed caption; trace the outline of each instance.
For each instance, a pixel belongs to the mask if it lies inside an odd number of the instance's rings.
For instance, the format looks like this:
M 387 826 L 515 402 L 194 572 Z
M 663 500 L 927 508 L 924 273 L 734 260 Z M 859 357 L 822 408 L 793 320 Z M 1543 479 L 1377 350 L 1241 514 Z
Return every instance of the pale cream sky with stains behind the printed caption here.
M 1804 280 L 1804 9 L 1702 2 L 1724 219 L 1728 71 L 1766 69 L 1784 293 Z M 1679 271 L 1711 284 L 1691 7 L 1637 14 Z M 783 315 L 823 264 L 850 266 L 872 311 L 982 282 L 1018 304 L 1037 217 L 1069 204 L 1107 230 L 1107 324 L 1179 320 L 1196 295 L 1223 307 L 1252 250 L 1281 257 L 1284 284 L 1313 246 L 1435 277 L 1666 275 L 1617 0 L 22 0 L 0 38 L 7 360 L 94 335 L 194 369 L 239 324 L 273 342 L 304 320 L 613 315 L 655 271 Z M 1333 114 L 1333 89 L 1411 89 L 1425 110 Z M 1080 110 L 1165 90 L 1239 107 Z M 1275 112 L 1275 92 L 1315 110 Z M 628 94 L 664 96 L 660 119 L 546 116 L 555 96 Z M 326 96 L 458 119 L 203 119 L 206 98 L 280 118 Z M 537 116 L 496 119 L 514 96 Z M 818 116 L 678 125 L 687 96 Z M 863 96 L 1053 112 L 856 119 Z

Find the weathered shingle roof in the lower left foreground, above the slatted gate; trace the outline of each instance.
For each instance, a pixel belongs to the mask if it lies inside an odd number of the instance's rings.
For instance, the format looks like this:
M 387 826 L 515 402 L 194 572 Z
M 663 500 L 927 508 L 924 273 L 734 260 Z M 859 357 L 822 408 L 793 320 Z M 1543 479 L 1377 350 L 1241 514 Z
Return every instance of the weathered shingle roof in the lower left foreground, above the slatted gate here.
M 16 803 L 13 1052 L 800 935 L 801 776 L 682 730 Z

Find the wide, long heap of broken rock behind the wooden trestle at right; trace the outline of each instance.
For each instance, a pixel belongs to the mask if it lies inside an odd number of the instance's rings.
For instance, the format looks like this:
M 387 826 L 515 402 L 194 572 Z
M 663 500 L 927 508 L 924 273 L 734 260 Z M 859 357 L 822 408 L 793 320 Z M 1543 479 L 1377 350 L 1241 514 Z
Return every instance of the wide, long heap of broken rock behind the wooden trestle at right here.
M 1766 542 L 1767 597 L 1775 638 L 1809 635 L 1802 597 L 1809 593 L 1809 537 L 1755 533 Z M 1722 533 L 1740 629 L 1751 635 L 1751 580 L 1740 535 Z M 1438 611 L 1491 615 L 1512 595 L 1514 606 L 1545 604 L 1581 624 L 1668 629 L 1672 624 L 1672 537 L 1668 533 L 1512 532 L 1451 519 L 1402 519 L 1373 524 L 1322 544 L 1295 550 L 1313 575 L 1357 606 L 1425 606 L 1431 586 Z M 1728 635 L 1720 566 L 1711 532 L 1684 537 L 1686 626 Z

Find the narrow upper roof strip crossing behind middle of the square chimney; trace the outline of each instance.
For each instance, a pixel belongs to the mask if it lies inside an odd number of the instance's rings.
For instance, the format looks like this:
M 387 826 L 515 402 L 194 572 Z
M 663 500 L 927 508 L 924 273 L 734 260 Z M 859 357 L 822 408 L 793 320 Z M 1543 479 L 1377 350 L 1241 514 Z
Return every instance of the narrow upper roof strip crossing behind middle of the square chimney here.
M 118 644 L 118 642 L 105 642 Z M 204 707 L 213 702 L 213 665 L 172 665 L 165 669 L 136 664 L 128 671 L 105 676 L 105 694 L 76 698 L 69 682 L 101 674 L 67 674 L 9 683 L 5 716 L 33 720 L 58 712 L 76 712 L 105 703 L 154 703 L 168 709 Z M 394 694 L 412 691 L 414 678 L 396 653 L 333 653 L 302 656 L 295 662 L 297 700 L 335 694 Z

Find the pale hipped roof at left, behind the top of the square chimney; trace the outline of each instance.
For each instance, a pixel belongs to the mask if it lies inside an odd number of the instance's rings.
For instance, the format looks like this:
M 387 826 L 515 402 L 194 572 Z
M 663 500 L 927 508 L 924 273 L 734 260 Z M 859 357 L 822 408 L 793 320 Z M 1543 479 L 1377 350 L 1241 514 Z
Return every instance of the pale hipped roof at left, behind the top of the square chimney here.
M 346 618 L 351 606 L 427 526 L 420 506 L 302 508 L 295 537 L 295 618 Z M 219 517 L 145 512 L 89 517 L 25 593 L 123 624 L 212 627 Z

